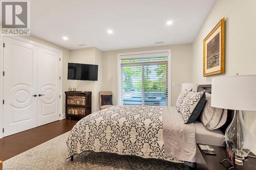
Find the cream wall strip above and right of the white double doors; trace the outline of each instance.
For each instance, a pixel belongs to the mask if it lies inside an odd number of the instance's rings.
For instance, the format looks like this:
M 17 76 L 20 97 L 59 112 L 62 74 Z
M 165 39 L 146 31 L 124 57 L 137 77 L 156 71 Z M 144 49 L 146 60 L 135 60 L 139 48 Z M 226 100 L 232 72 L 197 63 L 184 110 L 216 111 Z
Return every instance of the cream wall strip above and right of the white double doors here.
M 62 51 L 62 112 L 63 112 L 62 114 L 65 114 L 66 96 L 64 92 L 68 91 L 69 84 L 70 84 L 68 81 L 68 62 L 69 62 L 70 50 L 34 36 L 22 36 L 22 37 Z

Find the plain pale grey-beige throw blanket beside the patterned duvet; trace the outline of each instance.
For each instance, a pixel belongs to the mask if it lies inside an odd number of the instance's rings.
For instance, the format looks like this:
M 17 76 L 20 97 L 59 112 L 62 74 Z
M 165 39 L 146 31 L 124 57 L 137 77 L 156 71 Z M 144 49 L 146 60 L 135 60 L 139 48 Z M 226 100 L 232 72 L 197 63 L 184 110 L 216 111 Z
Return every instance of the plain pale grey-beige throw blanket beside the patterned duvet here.
M 166 108 L 165 108 L 166 109 Z M 163 113 L 163 140 L 165 156 L 196 162 L 196 129 L 193 123 L 184 124 L 176 107 Z

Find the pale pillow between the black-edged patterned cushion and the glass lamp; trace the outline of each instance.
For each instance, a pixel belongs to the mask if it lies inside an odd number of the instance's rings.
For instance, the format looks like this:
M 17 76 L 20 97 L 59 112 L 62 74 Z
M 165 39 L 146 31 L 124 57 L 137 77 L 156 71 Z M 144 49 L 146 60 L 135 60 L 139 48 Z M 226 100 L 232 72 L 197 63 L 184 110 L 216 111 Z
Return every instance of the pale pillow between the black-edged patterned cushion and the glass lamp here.
M 207 102 L 200 116 L 200 120 L 207 129 L 218 129 L 223 126 L 227 120 L 227 110 L 211 107 L 211 94 L 206 92 L 205 95 Z

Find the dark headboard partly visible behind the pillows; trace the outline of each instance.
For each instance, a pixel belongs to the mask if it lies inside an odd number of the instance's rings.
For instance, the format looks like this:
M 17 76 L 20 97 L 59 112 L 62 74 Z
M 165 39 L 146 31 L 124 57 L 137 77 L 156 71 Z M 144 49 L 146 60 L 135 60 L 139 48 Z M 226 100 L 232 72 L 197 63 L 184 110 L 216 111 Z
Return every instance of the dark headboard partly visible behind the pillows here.
M 211 94 L 211 85 L 199 85 L 197 91 L 203 91 L 205 90 L 206 92 Z M 227 110 L 227 121 L 226 123 L 220 128 L 220 130 L 225 133 L 227 127 L 230 125 L 233 119 L 233 110 Z

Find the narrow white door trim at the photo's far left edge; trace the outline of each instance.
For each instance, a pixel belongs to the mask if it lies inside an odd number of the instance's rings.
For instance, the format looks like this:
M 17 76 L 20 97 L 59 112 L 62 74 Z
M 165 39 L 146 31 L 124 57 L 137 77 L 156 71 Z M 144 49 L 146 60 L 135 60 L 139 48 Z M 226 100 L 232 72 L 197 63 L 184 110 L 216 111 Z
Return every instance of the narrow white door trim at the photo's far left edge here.
M 3 120 L 3 112 L 4 112 L 4 107 L 3 107 L 3 97 L 4 97 L 4 84 L 3 84 L 3 69 L 4 69 L 4 37 L 0 36 L 0 139 L 3 138 L 3 126 L 4 126 L 4 120 Z

